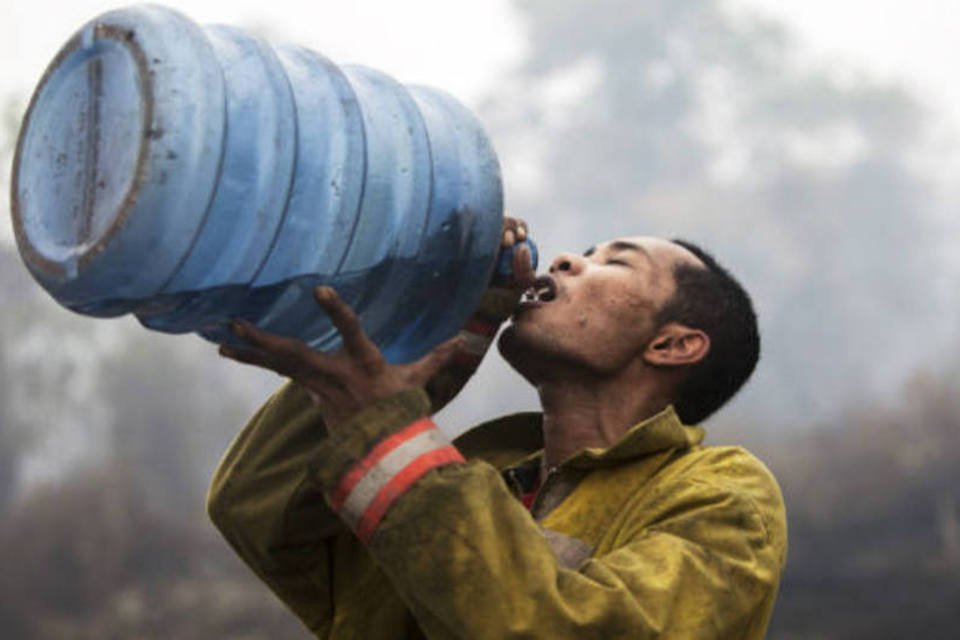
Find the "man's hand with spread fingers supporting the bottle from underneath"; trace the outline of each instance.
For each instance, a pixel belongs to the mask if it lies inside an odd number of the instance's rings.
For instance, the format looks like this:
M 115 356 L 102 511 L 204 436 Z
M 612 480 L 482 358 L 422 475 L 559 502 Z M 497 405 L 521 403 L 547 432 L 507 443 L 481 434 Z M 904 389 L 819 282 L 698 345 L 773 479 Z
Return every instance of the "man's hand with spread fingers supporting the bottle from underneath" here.
M 320 408 L 331 432 L 379 400 L 424 387 L 463 347 L 463 338 L 456 336 L 416 362 L 389 364 L 364 333 L 356 313 L 333 289 L 317 287 L 314 297 L 343 338 L 339 351 L 318 353 L 294 338 L 237 321 L 233 331 L 249 348 L 222 346 L 220 355 L 270 369 L 298 383 Z

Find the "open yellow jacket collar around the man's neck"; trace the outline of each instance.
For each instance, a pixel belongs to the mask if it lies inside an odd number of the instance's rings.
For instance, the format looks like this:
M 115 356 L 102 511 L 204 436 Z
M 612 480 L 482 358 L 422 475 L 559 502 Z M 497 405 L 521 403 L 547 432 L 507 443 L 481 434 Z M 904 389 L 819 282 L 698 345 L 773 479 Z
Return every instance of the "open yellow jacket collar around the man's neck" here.
M 543 450 L 543 415 L 519 413 L 471 429 L 456 439 L 468 457 L 485 459 L 499 468 L 539 460 Z M 668 449 L 687 449 L 703 441 L 700 427 L 680 422 L 673 406 L 631 427 L 608 448 L 583 449 L 564 466 L 592 469 L 612 466 Z

